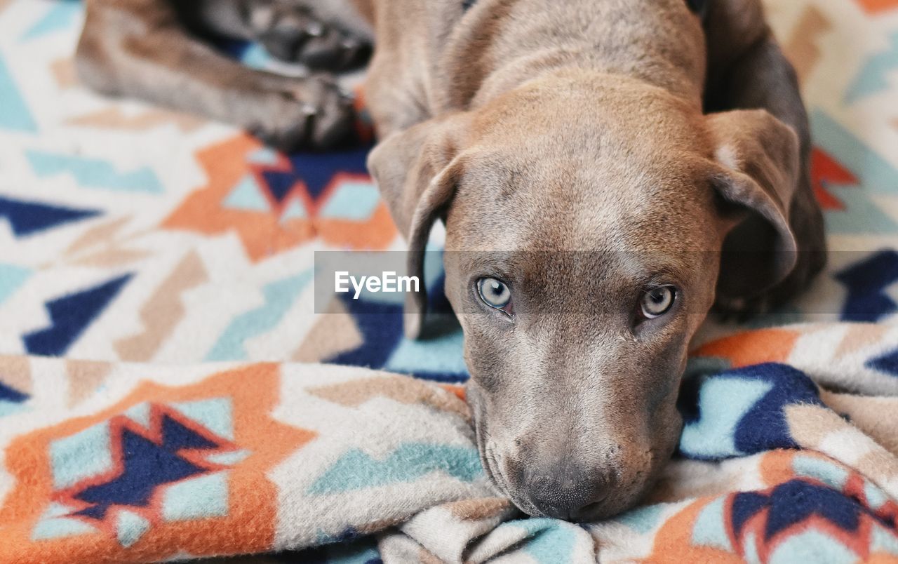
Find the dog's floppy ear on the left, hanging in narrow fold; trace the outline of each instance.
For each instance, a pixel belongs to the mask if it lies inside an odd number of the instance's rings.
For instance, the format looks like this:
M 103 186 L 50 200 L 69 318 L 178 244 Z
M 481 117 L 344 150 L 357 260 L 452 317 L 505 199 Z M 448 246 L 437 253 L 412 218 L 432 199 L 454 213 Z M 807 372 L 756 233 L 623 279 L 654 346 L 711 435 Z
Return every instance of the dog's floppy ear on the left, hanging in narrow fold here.
M 409 242 L 408 275 L 418 277 L 418 292 L 405 303 L 405 334 L 422 336 L 427 313 L 424 251 L 431 227 L 455 193 L 462 174 L 458 158 L 468 132 L 469 115 L 431 119 L 386 137 L 368 155 L 374 177 L 393 222 Z

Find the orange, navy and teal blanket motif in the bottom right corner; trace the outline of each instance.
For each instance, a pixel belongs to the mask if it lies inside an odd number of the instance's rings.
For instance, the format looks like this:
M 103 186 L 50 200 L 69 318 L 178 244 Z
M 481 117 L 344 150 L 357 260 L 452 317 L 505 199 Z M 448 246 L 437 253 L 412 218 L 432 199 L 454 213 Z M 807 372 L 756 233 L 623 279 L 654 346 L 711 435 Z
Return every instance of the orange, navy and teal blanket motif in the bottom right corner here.
M 898 505 L 861 474 L 819 454 L 762 455 L 775 484 L 704 498 L 667 521 L 656 542 L 666 559 L 760 562 L 898 558 Z M 686 533 L 688 542 L 671 542 Z

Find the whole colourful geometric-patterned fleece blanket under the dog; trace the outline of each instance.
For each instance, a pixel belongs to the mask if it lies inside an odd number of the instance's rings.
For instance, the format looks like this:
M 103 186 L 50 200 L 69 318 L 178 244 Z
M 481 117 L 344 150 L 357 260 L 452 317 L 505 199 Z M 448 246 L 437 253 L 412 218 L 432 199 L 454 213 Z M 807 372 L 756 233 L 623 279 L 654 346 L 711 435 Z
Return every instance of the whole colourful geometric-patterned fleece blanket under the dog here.
M 0 0 L 0 562 L 898 560 L 898 2 L 767 4 L 829 267 L 710 322 L 656 489 L 568 524 L 486 480 L 457 331 L 404 339 L 389 295 L 316 307 L 315 251 L 403 248 L 364 140 L 278 154 L 101 98 L 80 3 Z

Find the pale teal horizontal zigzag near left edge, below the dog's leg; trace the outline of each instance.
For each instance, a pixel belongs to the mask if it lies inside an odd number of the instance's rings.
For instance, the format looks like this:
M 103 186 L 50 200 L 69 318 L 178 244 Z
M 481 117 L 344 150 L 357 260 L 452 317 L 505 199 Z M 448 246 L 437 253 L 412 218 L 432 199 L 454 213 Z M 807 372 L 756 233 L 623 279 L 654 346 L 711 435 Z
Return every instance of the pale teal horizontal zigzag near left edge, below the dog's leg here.
M 27 151 L 31 168 L 38 176 L 69 173 L 84 188 L 100 188 L 126 192 L 162 193 L 155 172 L 147 167 L 119 172 L 107 161 L 69 154 Z

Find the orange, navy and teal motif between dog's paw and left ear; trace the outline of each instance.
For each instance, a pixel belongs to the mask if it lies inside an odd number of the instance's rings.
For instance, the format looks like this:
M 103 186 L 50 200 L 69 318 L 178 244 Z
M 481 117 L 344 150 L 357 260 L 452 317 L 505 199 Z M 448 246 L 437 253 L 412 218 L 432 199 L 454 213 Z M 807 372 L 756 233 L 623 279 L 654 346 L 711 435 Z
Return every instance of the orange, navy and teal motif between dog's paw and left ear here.
M 287 158 L 250 137 L 235 137 L 198 154 L 209 183 L 174 210 L 163 227 L 235 232 L 252 261 L 316 236 L 340 248 L 383 249 L 396 232 L 365 172 L 366 153 Z

